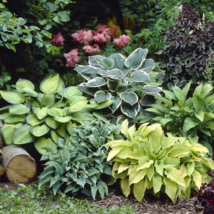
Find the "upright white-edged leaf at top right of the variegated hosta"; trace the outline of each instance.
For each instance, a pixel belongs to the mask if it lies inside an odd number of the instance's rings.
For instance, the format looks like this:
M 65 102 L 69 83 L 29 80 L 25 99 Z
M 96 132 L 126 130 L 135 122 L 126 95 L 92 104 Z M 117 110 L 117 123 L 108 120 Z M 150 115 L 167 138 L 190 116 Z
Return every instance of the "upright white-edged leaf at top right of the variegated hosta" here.
M 129 68 L 130 71 L 137 70 L 142 66 L 147 53 L 148 49 L 137 48 L 131 53 L 131 55 L 128 56 L 124 62 L 124 65 Z

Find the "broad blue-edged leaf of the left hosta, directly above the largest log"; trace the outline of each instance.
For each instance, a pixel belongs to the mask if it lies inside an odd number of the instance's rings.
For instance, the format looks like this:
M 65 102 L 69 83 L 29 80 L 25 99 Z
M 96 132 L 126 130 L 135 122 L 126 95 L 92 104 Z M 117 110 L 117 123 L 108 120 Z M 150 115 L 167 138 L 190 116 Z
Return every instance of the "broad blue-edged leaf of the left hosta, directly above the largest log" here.
M 13 136 L 13 143 L 16 145 L 31 143 L 34 140 L 35 137 L 31 134 L 29 125 L 23 125 L 18 128 Z

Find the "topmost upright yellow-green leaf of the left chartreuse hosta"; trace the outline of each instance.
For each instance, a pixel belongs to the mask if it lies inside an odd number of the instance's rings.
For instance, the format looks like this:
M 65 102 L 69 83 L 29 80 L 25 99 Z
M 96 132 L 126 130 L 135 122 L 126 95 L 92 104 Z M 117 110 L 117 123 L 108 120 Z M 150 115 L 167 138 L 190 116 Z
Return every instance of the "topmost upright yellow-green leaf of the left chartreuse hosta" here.
M 53 94 L 57 91 L 59 82 L 60 82 L 59 74 L 51 74 L 41 82 L 40 90 L 44 94 Z

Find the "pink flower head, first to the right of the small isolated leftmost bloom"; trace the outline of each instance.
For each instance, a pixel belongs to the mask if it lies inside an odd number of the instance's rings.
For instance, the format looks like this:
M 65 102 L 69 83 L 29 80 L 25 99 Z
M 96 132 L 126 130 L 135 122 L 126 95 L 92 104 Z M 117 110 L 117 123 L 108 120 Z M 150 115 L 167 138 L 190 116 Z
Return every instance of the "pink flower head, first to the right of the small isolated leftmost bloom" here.
M 90 30 L 79 30 L 76 33 L 71 34 L 73 41 L 79 44 L 88 45 L 93 40 L 93 35 Z

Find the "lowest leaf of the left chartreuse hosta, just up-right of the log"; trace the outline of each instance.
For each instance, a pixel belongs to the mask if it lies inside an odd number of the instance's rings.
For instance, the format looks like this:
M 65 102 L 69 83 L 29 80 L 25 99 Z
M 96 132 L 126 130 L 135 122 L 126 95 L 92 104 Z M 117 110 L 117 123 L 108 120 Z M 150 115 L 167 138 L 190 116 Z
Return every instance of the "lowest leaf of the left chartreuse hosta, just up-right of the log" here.
M 53 141 L 50 138 L 39 138 L 35 143 L 34 146 L 36 150 L 44 155 L 47 154 L 47 150 L 45 149 L 46 147 L 51 148 L 51 149 L 56 149 L 56 144 L 53 143 Z

